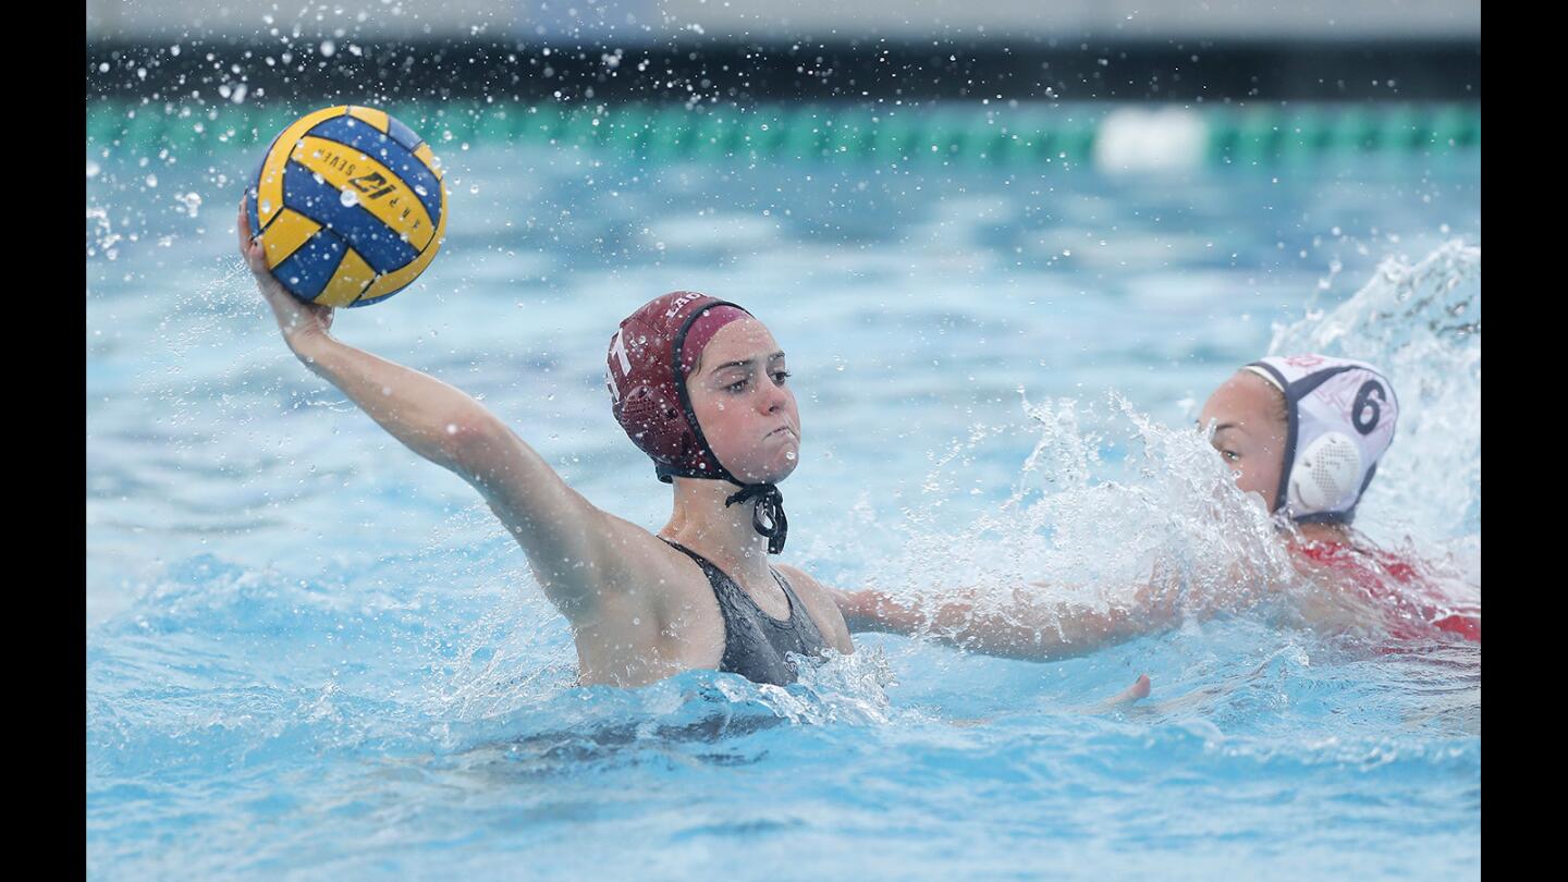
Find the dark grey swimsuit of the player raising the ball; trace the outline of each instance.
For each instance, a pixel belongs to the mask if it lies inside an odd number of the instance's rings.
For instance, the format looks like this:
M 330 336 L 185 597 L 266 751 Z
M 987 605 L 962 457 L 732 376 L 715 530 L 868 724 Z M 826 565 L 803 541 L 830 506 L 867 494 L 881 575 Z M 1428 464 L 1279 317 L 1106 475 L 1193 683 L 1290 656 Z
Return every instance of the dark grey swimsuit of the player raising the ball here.
M 668 538 L 665 541 L 670 543 L 670 548 L 682 551 L 695 560 L 702 568 L 709 584 L 713 585 L 718 610 L 724 617 L 724 658 L 718 662 L 718 670 L 739 673 L 754 683 L 787 686 L 795 683 L 795 665 L 784 658 L 784 653 L 820 656 L 828 648 L 817 623 L 811 620 L 806 606 L 795 596 L 795 589 L 789 587 L 789 581 L 778 570 L 768 567 L 789 600 L 789 621 L 762 612 L 762 607 L 751 600 L 745 589 L 701 554 Z

